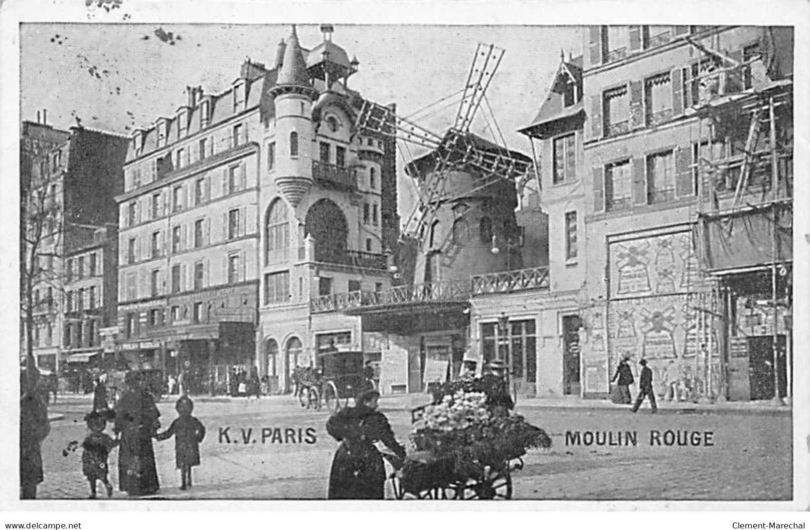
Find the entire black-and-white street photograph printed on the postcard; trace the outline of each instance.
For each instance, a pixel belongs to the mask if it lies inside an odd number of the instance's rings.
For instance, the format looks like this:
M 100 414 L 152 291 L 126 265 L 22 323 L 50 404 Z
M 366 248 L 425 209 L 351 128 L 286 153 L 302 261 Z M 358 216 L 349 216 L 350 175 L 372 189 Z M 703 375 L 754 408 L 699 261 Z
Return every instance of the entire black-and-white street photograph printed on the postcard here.
M 23 509 L 800 501 L 794 26 L 78 3 L 17 27 Z

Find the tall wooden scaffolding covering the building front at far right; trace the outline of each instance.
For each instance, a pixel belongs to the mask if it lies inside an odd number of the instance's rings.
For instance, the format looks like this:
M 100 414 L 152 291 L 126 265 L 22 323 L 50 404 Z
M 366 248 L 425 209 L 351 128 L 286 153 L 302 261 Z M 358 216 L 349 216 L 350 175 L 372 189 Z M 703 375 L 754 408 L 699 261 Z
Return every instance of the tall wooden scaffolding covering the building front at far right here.
M 769 31 L 767 28 L 765 32 Z M 778 79 L 766 63 L 765 53 L 754 53 L 743 61 L 727 57 L 709 46 L 690 41 L 709 59 L 692 82 L 699 83 L 700 100 L 693 112 L 698 118 L 697 147 L 693 167 L 697 169 L 697 257 L 701 286 L 690 293 L 698 312 L 700 352 L 696 372 L 703 374 L 703 397 L 714 399 L 712 353 L 718 345 L 718 399 L 729 392 L 731 328 L 736 326 L 731 307 L 731 289 L 725 279 L 747 271 L 770 273 L 770 334 L 774 403 L 782 404 L 779 381 L 779 310 L 785 316 L 786 346 L 784 385 L 791 397 L 791 339 L 787 315 L 792 313 L 790 281 L 791 251 L 785 232 L 792 219 L 793 195 L 793 83 L 790 75 Z M 756 218 L 757 220 L 752 220 Z M 736 222 L 737 232 L 731 227 Z M 741 227 L 741 228 L 740 228 Z M 734 246 L 740 233 L 758 245 L 769 247 L 748 254 L 728 253 L 723 263 L 718 247 Z M 753 237 L 752 237 L 753 236 Z M 757 237 L 759 236 L 759 237 Z M 763 245 L 764 237 L 770 237 Z M 784 284 L 780 293 L 778 284 Z M 780 295 L 783 296 L 780 296 Z M 721 331 L 718 333 L 718 331 Z

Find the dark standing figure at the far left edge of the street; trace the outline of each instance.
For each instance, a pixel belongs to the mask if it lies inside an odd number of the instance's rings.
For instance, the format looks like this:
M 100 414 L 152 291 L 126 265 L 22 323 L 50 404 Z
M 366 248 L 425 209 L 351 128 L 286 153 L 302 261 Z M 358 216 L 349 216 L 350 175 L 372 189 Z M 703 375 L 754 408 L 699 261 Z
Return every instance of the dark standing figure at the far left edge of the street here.
M 20 498 L 36 498 L 36 488 L 45 479 L 42 472 L 42 440 L 50 432 L 48 407 L 37 389 L 39 370 L 23 373 L 19 399 L 19 487 Z M 26 370 L 28 372 L 28 370 Z

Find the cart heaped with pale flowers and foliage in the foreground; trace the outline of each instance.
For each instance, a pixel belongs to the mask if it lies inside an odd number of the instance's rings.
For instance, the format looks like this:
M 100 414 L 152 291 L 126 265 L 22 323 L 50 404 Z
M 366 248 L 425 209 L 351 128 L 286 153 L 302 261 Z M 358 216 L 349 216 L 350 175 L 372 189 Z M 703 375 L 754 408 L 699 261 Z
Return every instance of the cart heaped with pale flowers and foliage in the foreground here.
M 422 408 L 410 439 L 415 451 L 390 477 L 400 499 L 511 498 L 512 472 L 527 449 L 551 446 L 522 415 L 463 390 Z

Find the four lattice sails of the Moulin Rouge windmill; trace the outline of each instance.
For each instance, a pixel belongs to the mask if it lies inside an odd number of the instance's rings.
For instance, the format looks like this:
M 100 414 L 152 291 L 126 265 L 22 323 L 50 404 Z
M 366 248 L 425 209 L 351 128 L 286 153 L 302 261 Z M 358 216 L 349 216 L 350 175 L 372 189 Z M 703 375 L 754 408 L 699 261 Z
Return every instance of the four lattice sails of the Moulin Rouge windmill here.
M 470 132 L 504 51 L 495 45 L 478 44 L 454 125 L 444 135 L 396 116 L 388 107 L 368 100 L 360 104 L 356 126 L 361 132 L 387 135 L 430 150 L 433 169 L 426 174 L 432 177 L 425 177 L 423 186 L 418 187 L 419 205 L 404 223 L 405 233 L 420 241 L 424 237 L 424 228 L 433 223 L 437 209 L 453 199 L 445 193 L 450 171 L 475 174 L 475 186 L 479 188 L 500 179 L 520 185 L 531 177 L 533 165 L 530 159 Z

